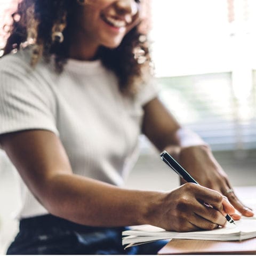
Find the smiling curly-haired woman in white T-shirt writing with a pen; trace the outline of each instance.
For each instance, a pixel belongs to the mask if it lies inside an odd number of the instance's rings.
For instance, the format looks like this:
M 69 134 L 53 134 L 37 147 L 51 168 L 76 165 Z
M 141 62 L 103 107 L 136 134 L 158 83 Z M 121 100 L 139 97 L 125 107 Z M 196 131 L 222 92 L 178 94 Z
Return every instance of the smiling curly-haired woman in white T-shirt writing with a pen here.
M 158 100 L 141 9 L 135 0 L 19 3 L 0 61 L 0 142 L 22 178 L 20 231 L 7 253 L 154 254 L 159 244 L 124 251 L 122 230 L 213 229 L 227 213 L 240 218 L 231 204 L 253 214 L 210 148 Z M 141 132 L 205 187 L 122 188 Z

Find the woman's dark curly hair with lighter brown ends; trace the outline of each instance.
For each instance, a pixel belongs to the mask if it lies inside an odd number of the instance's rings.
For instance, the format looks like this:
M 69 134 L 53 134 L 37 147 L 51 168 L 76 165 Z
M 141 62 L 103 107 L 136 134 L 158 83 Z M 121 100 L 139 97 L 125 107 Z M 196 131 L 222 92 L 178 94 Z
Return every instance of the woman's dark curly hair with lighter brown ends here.
M 31 66 L 35 66 L 41 57 L 46 61 L 55 56 L 55 70 L 61 72 L 68 59 L 71 38 L 69 31 L 74 19 L 75 0 L 22 0 L 12 13 L 12 25 L 8 33 L 4 55 L 13 49 L 28 45 L 33 47 Z M 140 33 L 135 26 L 123 38 L 115 49 L 101 46 L 98 56 L 103 65 L 113 70 L 122 92 L 134 94 L 139 84 L 146 82 L 151 71 L 149 43 L 146 34 Z M 63 30 L 63 42 L 54 38 L 54 30 Z M 59 39 L 59 40 L 58 40 Z

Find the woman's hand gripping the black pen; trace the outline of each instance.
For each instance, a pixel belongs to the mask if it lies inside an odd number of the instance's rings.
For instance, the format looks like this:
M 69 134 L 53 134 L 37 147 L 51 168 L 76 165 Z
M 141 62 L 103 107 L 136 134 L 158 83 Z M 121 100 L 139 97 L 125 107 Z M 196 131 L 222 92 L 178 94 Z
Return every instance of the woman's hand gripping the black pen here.
M 153 225 L 172 231 L 212 230 L 225 226 L 226 214 L 235 212 L 219 192 L 195 183 L 186 183 L 166 194 L 161 206 Z

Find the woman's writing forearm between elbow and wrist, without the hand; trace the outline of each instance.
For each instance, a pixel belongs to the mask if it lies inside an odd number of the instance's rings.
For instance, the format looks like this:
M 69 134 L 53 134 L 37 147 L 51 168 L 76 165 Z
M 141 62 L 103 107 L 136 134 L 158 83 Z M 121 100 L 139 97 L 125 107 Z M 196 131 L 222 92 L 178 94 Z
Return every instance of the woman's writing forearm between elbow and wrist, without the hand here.
M 55 175 L 46 187 L 38 196 L 50 213 L 89 226 L 154 224 L 153 212 L 164 196 L 161 192 L 122 189 L 74 174 Z

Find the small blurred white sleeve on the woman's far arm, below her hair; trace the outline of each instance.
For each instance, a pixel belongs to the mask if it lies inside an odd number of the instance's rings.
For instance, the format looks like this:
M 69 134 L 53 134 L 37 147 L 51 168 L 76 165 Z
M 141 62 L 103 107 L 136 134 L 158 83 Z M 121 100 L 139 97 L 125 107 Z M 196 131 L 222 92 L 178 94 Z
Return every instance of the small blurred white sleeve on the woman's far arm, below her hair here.
M 144 106 L 150 100 L 157 97 L 159 88 L 155 78 L 150 78 L 146 84 L 143 84 L 137 94 L 137 100 L 141 106 Z

